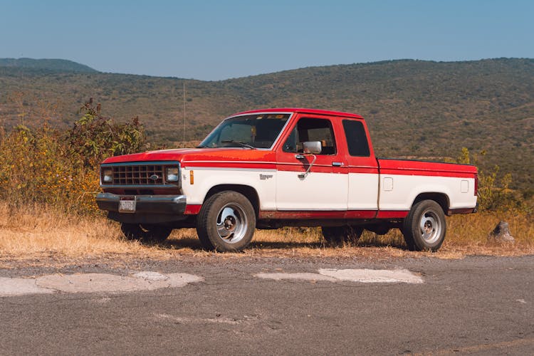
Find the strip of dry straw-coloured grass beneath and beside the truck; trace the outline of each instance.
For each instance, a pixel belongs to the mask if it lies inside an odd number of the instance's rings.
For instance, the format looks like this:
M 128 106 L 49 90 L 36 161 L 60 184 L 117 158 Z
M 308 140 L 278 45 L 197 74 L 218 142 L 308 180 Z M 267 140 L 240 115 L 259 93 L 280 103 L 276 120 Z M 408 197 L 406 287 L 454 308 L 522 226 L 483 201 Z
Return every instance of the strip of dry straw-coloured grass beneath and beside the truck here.
M 26 206 L 13 211 L 0 204 L 0 262 L 36 261 L 39 258 L 155 258 L 178 256 L 239 257 L 335 257 L 402 258 L 435 256 L 462 258 L 466 255 L 520 256 L 534 254 L 534 222 L 525 215 L 495 213 L 452 216 L 448 236 L 437 253 L 410 252 L 402 235 L 392 230 L 385 236 L 366 231 L 356 246 L 324 246 L 319 229 L 279 229 L 257 231 L 244 253 L 202 251 L 194 229 L 173 231 L 159 245 L 125 241 L 118 224 L 103 217 L 67 216 L 43 206 Z M 488 233 L 500 220 L 508 221 L 515 244 L 491 244 Z

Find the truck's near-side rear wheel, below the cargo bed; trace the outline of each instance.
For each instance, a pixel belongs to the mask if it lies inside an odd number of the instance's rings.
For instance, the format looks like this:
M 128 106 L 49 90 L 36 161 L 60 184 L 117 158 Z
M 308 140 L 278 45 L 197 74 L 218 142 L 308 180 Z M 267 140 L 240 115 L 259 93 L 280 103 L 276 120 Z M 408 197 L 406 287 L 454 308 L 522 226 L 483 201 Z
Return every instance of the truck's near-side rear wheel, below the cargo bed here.
M 443 209 L 433 200 L 414 204 L 402 223 L 404 241 L 411 251 L 438 251 L 446 229 Z

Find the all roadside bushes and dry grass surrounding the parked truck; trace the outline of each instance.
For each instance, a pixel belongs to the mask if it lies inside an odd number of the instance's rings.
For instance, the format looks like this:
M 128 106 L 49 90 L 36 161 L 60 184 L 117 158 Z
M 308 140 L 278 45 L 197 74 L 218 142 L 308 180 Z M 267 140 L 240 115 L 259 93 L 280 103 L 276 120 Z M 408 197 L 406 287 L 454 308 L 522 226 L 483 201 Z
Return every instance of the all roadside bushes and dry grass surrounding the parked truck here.
M 164 244 L 143 246 L 125 241 L 118 224 L 108 221 L 95 204 L 98 163 L 105 157 L 157 148 L 147 142 L 137 117 L 115 122 L 89 100 L 70 128 L 51 126 L 54 108 L 44 108 L 38 122 L 0 128 L 0 260 L 132 256 L 175 258 L 182 254 L 209 256 L 201 251 L 194 229 L 174 231 Z M 27 117 L 26 117 L 27 118 Z M 36 120 L 34 117 L 33 120 Z M 459 150 L 460 151 L 460 150 Z M 449 162 L 477 166 L 486 152 L 461 149 Z M 532 190 L 511 189 L 511 174 L 498 166 L 479 172 L 480 212 L 448 218 L 444 246 L 434 256 L 466 254 L 517 255 L 534 253 Z M 487 236 L 499 221 L 508 221 L 515 244 L 492 244 Z M 245 253 L 226 256 L 426 256 L 404 248 L 402 235 L 365 231 L 355 245 L 325 246 L 320 229 L 284 228 L 257 231 Z

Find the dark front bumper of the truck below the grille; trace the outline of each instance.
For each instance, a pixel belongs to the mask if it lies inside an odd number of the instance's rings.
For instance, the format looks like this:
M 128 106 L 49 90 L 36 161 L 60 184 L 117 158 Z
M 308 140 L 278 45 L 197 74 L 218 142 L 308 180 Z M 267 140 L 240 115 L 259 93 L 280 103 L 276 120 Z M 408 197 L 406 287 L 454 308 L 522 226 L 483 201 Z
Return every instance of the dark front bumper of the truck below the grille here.
M 139 214 L 184 214 L 187 199 L 185 195 L 119 195 L 112 193 L 98 193 L 96 204 L 102 210 L 119 211 L 119 201 L 122 197 L 135 199 L 135 215 Z M 129 213 L 124 213 L 129 214 Z M 121 214 L 122 215 L 122 214 Z

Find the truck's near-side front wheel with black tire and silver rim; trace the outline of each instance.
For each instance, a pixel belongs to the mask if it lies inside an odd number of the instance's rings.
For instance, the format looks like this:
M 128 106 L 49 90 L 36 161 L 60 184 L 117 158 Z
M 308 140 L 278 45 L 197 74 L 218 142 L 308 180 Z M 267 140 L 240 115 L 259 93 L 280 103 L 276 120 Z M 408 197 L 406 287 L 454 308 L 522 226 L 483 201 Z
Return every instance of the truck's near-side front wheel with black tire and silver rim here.
M 226 190 L 212 195 L 197 216 L 199 240 L 210 251 L 241 251 L 252 240 L 256 213 L 241 193 Z

